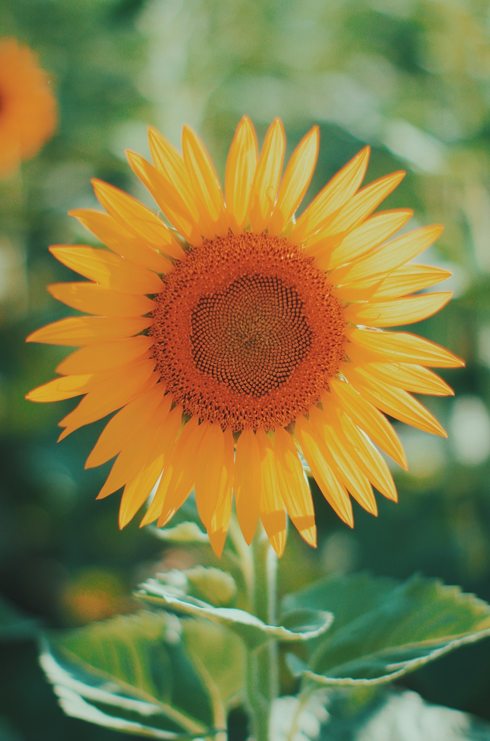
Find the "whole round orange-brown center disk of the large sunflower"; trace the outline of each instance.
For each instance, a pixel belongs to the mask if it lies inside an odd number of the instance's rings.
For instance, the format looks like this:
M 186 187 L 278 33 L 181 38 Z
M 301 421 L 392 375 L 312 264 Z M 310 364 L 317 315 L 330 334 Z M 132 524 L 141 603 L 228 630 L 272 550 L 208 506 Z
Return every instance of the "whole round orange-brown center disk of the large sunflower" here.
M 192 247 L 155 302 L 162 382 L 185 413 L 234 431 L 288 425 L 344 357 L 340 302 L 284 238 L 245 232 Z

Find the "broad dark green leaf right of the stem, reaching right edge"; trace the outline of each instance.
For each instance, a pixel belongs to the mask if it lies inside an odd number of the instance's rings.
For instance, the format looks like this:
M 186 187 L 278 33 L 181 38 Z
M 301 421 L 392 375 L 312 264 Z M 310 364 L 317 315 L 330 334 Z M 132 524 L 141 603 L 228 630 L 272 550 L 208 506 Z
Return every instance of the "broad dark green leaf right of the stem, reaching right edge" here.
M 457 587 L 414 576 L 334 576 L 285 598 L 286 608 L 334 613 L 328 634 L 289 654 L 294 675 L 320 685 L 388 682 L 490 635 L 490 607 Z

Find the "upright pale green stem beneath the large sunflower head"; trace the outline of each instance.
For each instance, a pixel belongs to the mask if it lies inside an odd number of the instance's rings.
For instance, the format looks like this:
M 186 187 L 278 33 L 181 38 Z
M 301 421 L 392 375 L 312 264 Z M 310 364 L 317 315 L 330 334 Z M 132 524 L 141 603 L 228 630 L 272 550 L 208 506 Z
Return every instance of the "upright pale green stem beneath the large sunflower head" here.
M 252 611 L 268 625 L 276 624 L 277 556 L 265 532 L 256 535 L 251 546 L 254 579 Z M 251 735 L 255 741 L 268 741 L 269 718 L 279 692 L 279 654 L 277 641 L 248 652 L 247 700 L 251 714 Z

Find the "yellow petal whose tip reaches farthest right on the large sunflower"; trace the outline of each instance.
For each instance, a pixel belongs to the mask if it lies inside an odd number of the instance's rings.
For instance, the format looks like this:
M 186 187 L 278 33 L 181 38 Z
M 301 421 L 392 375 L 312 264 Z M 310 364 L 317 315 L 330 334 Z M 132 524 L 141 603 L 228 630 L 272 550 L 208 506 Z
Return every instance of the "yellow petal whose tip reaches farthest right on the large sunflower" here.
M 428 365 L 431 368 L 461 368 L 464 360 L 428 339 L 408 332 L 377 332 L 353 328 L 351 342 L 377 353 L 382 360 Z

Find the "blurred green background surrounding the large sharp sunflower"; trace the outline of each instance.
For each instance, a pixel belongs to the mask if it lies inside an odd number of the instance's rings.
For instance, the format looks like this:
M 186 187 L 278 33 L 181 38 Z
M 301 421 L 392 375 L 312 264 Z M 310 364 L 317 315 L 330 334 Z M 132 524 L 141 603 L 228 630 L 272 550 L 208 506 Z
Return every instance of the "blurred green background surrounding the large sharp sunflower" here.
M 96 205 L 90 178 L 152 205 L 124 150 L 148 156 L 146 128 L 179 146 L 205 139 L 220 175 L 243 113 L 263 136 L 280 116 L 288 151 L 320 125 L 307 200 L 365 144 L 368 180 L 408 171 L 386 207 L 411 224 L 443 222 L 426 262 L 454 276 L 454 300 L 417 331 L 466 358 L 443 373 L 454 399 L 429 399 L 448 440 L 400 425 L 409 472 L 377 519 L 355 507 L 350 531 L 315 493 L 320 547 L 291 533 L 282 589 L 306 574 L 368 569 L 439 576 L 490 599 L 490 10 L 486 0 L 0 0 L 0 36 L 39 54 L 59 127 L 21 173 L 0 182 L 0 740 L 123 738 L 63 716 L 37 663 L 33 626 L 83 625 L 133 608 L 131 590 L 162 565 L 188 565 L 132 523 L 119 495 L 95 501 L 107 470 L 84 471 L 96 425 L 56 445 L 73 402 L 24 401 L 63 348 L 24 336 L 66 316 L 45 290 L 73 280 L 51 244 L 87 243 L 67 216 Z M 96 429 L 94 429 L 96 427 Z M 382 497 L 378 497 L 382 499 Z M 210 556 L 210 562 L 212 556 Z M 404 682 L 431 702 L 490 718 L 490 642 Z

